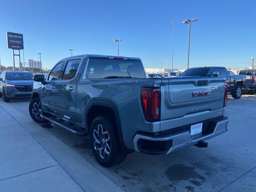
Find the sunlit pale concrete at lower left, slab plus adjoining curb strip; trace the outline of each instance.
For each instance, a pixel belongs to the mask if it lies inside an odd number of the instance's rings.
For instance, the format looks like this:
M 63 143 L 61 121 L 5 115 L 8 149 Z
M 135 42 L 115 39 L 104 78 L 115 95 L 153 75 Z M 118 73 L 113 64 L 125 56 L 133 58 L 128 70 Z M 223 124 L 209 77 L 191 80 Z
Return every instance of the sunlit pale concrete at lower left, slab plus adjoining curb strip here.
M 0 100 L 1 192 L 80 192 L 100 189 L 121 190 L 31 118 Z

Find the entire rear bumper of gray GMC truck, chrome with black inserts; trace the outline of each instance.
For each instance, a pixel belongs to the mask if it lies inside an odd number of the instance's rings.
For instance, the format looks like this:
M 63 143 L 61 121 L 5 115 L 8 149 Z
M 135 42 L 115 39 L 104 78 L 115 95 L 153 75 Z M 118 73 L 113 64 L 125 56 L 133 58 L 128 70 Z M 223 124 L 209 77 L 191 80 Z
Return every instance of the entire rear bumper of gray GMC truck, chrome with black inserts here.
M 208 140 L 225 133 L 228 117 L 222 116 L 203 121 L 203 131 L 199 135 L 190 135 L 190 125 L 172 129 L 158 134 L 136 134 L 134 150 L 146 154 L 165 155 L 171 152 L 194 146 L 200 140 Z

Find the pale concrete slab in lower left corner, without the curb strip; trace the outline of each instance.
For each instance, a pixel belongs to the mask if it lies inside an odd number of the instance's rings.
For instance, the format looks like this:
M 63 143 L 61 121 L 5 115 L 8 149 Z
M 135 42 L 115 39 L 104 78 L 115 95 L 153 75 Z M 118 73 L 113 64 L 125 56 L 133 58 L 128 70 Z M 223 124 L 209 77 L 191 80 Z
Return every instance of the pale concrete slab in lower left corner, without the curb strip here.
M 0 191 L 82 191 L 58 162 L 0 106 Z

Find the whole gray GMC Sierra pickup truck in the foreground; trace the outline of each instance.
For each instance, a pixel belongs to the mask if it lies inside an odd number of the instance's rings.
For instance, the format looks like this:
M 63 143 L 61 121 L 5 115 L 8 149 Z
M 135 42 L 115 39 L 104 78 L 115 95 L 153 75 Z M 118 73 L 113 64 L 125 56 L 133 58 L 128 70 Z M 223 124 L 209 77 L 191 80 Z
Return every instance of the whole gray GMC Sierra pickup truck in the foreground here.
M 222 77 L 146 78 L 139 58 L 81 55 L 34 80 L 32 119 L 89 134 L 102 166 L 134 151 L 164 155 L 207 147 L 205 140 L 227 131 Z

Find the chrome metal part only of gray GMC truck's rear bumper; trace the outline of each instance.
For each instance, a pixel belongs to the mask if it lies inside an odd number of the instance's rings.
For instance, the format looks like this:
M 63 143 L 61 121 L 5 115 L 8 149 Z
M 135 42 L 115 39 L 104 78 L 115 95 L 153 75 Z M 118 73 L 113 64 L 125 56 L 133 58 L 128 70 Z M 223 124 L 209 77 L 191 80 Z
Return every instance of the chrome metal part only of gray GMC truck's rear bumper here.
M 153 136 L 136 134 L 136 136 L 134 137 L 134 140 L 133 140 L 134 150 L 137 152 L 144 152 L 143 150 L 140 150 L 140 147 L 138 146 L 138 141 L 140 139 L 153 141 L 154 143 L 156 143 L 158 141 L 166 141 L 166 142 L 170 142 L 170 148 L 168 148 L 164 152 L 159 152 L 159 153 L 155 153 L 155 154 L 161 154 L 161 155 L 169 154 L 171 152 L 181 150 L 181 149 L 187 148 L 189 146 L 194 146 L 200 140 L 208 140 L 208 139 L 214 138 L 222 133 L 225 133 L 228 130 L 228 128 L 227 128 L 228 121 L 229 121 L 228 117 L 225 117 L 225 116 L 223 116 L 221 118 L 217 118 L 217 119 L 215 118 L 214 120 L 210 121 L 210 122 L 215 123 L 214 131 L 210 134 L 207 134 L 207 135 L 199 137 L 199 138 L 194 138 L 194 139 L 190 135 L 189 130 L 186 130 L 184 128 L 181 128 L 180 133 L 179 132 L 177 133 L 177 131 L 176 131 L 176 133 L 174 132 L 174 134 L 170 134 L 169 136 L 164 135 L 164 137 L 161 137 L 162 136 L 161 134 L 156 134 Z M 144 152 L 144 153 L 154 154 L 154 152 L 153 153 Z

